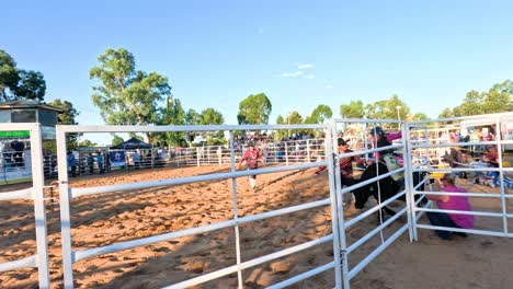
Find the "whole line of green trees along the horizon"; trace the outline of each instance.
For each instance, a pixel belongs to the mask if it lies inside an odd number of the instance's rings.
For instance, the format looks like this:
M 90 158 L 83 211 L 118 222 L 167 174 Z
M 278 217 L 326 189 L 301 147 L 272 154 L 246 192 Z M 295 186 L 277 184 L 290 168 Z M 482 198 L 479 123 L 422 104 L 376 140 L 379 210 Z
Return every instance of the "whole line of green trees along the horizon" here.
M 90 69 L 89 77 L 94 81 L 92 102 L 98 107 L 106 125 L 223 125 L 225 117 L 214 107 L 201 112 L 185 109 L 179 97 L 172 94 L 169 79 L 155 71 L 138 70 L 135 57 L 124 48 L 109 48 L 98 57 L 98 65 Z M 16 67 L 14 59 L 0 49 L 0 101 L 16 100 L 44 101 L 46 82 L 43 73 Z M 488 91 L 469 91 L 461 104 L 444 108 L 438 118 L 490 114 L 513 111 L 513 82 L 505 80 Z M 59 124 L 77 125 L 79 112 L 68 101 L 56 99 L 48 103 L 65 109 L 59 115 Z M 239 125 L 269 124 L 272 103 L 264 93 L 251 94 L 239 103 L 237 120 Z M 328 105 L 319 104 L 310 115 L 301 116 L 297 111 L 278 115 L 276 124 L 321 124 L 331 118 L 333 112 Z M 387 100 L 364 104 L 351 100 L 340 105 L 342 118 L 369 119 L 426 119 L 424 113 L 413 113 L 397 94 Z M 198 134 L 198 132 L 196 132 Z M 223 131 L 201 132 L 210 141 L 224 139 Z M 280 132 L 278 132 L 280 134 Z M 283 134 L 277 137 L 284 137 Z M 146 134 L 152 143 L 167 146 L 181 144 L 196 135 L 191 132 Z M 70 141 L 76 141 L 78 136 Z M 115 142 L 119 137 L 114 138 Z

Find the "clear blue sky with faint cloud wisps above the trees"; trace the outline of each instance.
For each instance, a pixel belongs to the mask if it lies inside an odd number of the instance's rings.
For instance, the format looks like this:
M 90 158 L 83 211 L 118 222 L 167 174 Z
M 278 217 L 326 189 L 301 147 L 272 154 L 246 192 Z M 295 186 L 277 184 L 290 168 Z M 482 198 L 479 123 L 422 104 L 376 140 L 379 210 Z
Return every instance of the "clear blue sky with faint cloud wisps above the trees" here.
M 186 3 L 185 3 L 186 2 Z M 358 2 L 358 3 L 355 3 Z M 124 47 L 169 78 L 185 109 L 220 111 L 264 92 L 278 114 L 397 93 L 436 117 L 513 78 L 513 1 L 7 1 L 0 48 L 39 70 L 46 101 L 103 124 L 89 69 Z

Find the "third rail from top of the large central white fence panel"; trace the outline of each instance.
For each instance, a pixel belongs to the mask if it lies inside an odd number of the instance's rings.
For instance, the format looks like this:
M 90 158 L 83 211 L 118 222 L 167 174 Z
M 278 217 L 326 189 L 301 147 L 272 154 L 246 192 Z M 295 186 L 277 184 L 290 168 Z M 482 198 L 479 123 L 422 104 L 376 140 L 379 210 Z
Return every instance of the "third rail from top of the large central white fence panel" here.
M 311 209 L 311 208 L 326 206 L 326 205 L 330 205 L 330 199 L 317 200 L 317 201 L 307 203 L 307 204 L 293 206 L 293 207 L 287 207 L 287 208 L 283 208 L 283 209 L 278 209 L 278 210 L 262 212 L 262 213 L 259 213 L 259 215 L 242 217 L 242 218 L 239 218 L 238 221 L 228 220 L 228 221 L 217 222 L 217 223 L 213 223 L 213 224 L 184 229 L 184 230 L 180 230 L 180 231 L 176 231 L 176 232 L 164 233 L 164 234 L 152 235 L 152 236 L 148 236 L 148 238 L 141 238 L 141 239 L 137 239 L 137 240 L 130 240 L 130 241 L 114 243 L 114 244 L 102 246 L 102 247 L 94 247 L 94 248 L 89 248 L 89 250 L 76 251 L 75 252 L 75 262 L 78 262 L 78 261 L 84 259 L 84 258 L 99 256 L 99 255 L 102 255 L 102 254 L 114 253 L 114 252 L 122 251 L 122 250 L 128 250 L 128 248 L 133 248 L 133 247 L 136 247 L 136 246 L 146 246 L 146 245 L 150 245 L 150 244 L 153 244 L 153 243 L 163 242 L 163 241 L 168 241 L 168 240 L 176 239 L 176 238 L 181 238 L 181 236 L 194 235 L 194 234 L 210 232 L 210 231 L 215 231 L 215 230 L 220 230 L 220 229 L 225 229 L 225 228 L 236 226 L 237 223 L 241 224 L 241 223 L 263 220 L 263 219 L 267 219 L 267 218 L 272 218 L 272 217 L 276 217 L 276 216 L 281 216 L 281 215 L 292 213 L 292 212 L 306 210 L 306 209 Z

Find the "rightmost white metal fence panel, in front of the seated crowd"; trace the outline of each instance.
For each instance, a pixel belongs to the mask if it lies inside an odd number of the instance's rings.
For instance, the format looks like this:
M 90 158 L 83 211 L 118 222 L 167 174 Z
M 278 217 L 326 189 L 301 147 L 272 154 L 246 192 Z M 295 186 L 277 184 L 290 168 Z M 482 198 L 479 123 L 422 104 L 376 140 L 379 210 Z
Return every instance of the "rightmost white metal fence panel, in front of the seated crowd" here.
M 458 141 L 458 142 L 437 142 L 429 138 L 426 134 L 430 129 L 436 128 L 441 129 L 444 127 L 449 127 L 453 131 L 461 131 L 467 129 L 465 124 L 471 123 L 472 129 L 482 129 L 489 130 L 494 129 L 495 136 L 494 140 L 486 141 Z M 419 188 L 423 183 L 418 186 L 410 187 L 411 198 L 414 195 L 445 195 L 445 196 L 467 196 L 469 198 L 492 198 L 498 199 L 501 203 L 500 211 L 460 211 L 460 210 L 442 210 L 434 209 L 432 207 L 432 201 L 429 203 L 426 207 L 419 207 L 419 201 L 412 203 L 411 213 L 413 218 L 412 222 L 412 233 L 413 240 L 418 240 L 418 229 L 430 229 L 430 230 L 445 230 L 454 231 L 461 233 L 472 233 L 472 234 L 483 234 L 483 235 L 494 235 L 494 236 L 506 236 L 513 238 L 513 233 L 509 231 L 509 220 L 513 218 L 512 213 L 508 213 L 508 203 L 513 199 L 511 190 L 513 187 L 513 180 L 508 177 L 506 174 L 513 172 L 513 167 L 510 167 L 509 160 L 505 159 L 505 148 L 513 144 L 513 113 L 505 114 L 492 114 L 492 115 L 479 115 L 471 117 L 457 117 L 457 118 L 444 118 L 436 120 L 419 120 L 407 124 L 407 137 L 418 134 L 417 131 L 424 131 L 426 138 L 424 141 L 411 142 L 409 146 L 409 154 L 414 155 L 419 154 L 419 151 L 426 151 L 431 149 L 443 149 L 447 151 L 447 154 L 451 153 L 451 149 L 459 150 L 463 152 L 464 157 L 467 157 L 465 161 L 454 162 L 454 167 L 443 167 L 440 163 L 431 163 L 429 165 L 414 165 L 409 163 L 412 172 L 426 172 L 430 173 L 432 177 L 440 177 L 443 173 L 464 173 L 467 174 L 468 178 L 460 180 L 460 182 L 470 181 L 469 183 L 476 183 L 480 185 L 491 186 L 492 193 L 480 193 L 480 192 L 467 192 L 467 193 L 446 193 L 446 192 L 420 192 Z M 489 163 L 482 160 L 485 152 L 487 151 L 483 148 L 494 146 L 498 152 L 498 162 L 497 166 L 491 166 Z M 428 178 L 426 178 L 428 180 Z M 424 183 L 425 181 L 424 180 Z M 431 187 L 431 186 L 430 186 Z M 474 188 L 474 186 L 472 186 Z M 472 189 L 474 190 L 474 189 Z M 446 212 L 446 213 L 461 213 L 461 215 L 472 215 L 479 217 L 492 217 L 502 219 L 502 230 L 469 230 L 469 229 L 456 229 L 456 228 L 446 228 L 446 227 L 435 227 L 431 224 L 421 224 L 419 223 L 420 217 L 423 212 Z

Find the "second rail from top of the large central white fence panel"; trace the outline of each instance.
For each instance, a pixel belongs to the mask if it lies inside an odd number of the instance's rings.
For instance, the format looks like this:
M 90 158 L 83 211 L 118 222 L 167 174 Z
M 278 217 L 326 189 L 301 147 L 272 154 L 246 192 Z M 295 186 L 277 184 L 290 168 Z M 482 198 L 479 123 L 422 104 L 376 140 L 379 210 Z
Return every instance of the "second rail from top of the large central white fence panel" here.
M 189 176 L 189 177 L 166 178 L 166 180 L 158 180 L 158 181 L 138 182 L 138 183 L 111 185 L 111 186 L 71 188 L 70 190 L 71 190 L 72 198 L 77 198 L 77 197 L 87 196 L 87 195 L 95 195 L 95 194 L 103 194 L 103 193 L 111 193 L 111 192 L 134 190 L 134 189 L 151 188 L 151 187 L 159 187 L 159 186 L 183 185 L 183 184 L 190 184 L 190 183 L 195 183 L 195 182 L 206 182 L 206 181 L 226 180 L 226 178 L 231 178 L 231 177 L 249 176 L 252 174 L 270 174 L 270 173 L 277 173 L 277 172 L 306 170 L 310 167 L 318 167 L 318 166 L 326 165 L 326 164 L 327 162 L 304 163 L 304 164 L 296 164 L 296 165 L 288 165 L 288 166 L 258 169 L 258 170 L 251 170 L 251 172 L 240 171 L 240 172 L 235 172 L 235 173 L 230 172 L 230 173 L 218 173 L 218 174 L 208 174 L 208 175 L 196 175 L 196 176 Z

